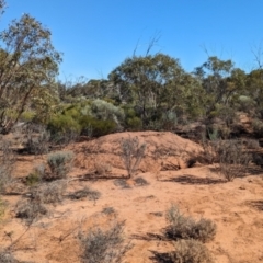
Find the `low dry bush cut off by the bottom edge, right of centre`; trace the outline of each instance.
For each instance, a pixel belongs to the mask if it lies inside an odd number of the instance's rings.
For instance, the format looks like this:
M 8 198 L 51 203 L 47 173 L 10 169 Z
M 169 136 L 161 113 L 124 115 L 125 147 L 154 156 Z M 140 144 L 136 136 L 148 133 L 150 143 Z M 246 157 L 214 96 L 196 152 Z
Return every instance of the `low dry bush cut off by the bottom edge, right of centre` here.
M 173 263 L 213 263 L 209 250 L 196 240 L 180 240 L 171 254 Z

